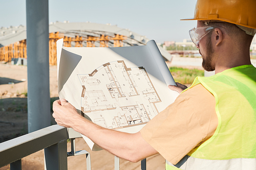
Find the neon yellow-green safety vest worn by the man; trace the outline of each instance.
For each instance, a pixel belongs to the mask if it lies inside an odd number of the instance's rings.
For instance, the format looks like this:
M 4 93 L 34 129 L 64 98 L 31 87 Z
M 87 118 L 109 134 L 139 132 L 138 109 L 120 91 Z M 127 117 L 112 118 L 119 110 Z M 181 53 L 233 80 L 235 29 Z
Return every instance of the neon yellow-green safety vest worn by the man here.
M 242 65 L 197 77 L 189 88 L 200 83 L 215 96 L 218 127 L 178 164 L 166 161 L 166 169 L 256 169 L 256 68 Z

